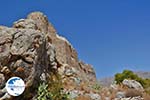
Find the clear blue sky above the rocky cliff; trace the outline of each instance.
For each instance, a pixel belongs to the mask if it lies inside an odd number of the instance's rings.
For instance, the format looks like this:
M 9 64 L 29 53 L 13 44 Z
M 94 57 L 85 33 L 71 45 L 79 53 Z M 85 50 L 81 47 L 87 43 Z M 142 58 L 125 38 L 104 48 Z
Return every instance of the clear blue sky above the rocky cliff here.
M 149 0 L 1 0 L 0 24 L 44 12 L 97 77 L 150 71 Z

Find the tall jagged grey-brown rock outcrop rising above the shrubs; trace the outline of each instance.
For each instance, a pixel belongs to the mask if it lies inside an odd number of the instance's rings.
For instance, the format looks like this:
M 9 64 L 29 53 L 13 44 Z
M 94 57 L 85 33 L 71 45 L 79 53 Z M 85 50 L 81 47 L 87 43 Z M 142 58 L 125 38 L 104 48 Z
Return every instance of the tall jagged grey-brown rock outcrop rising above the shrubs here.
M 91 96 L 91 100 L 100 100 L 99 95 L 90 90 L 96 81 L 91 65 L 78 60 L 72 45 L 57 34 L 41 12 L 33 12 L 26 19 L 16 21 L 12 28 L 0 26 L 1 99 L 32 99 L 34 88 L 39 82 L 47 81 L 52 71 L 60 73 L 66 91 L 83 91 L 83 94 Z M 26 84 L 24 94 L 15 98 L 2 91 L 12 76 L 21 77 Z M 83 83 L 87 87 L 84 90 L 81 87 Z

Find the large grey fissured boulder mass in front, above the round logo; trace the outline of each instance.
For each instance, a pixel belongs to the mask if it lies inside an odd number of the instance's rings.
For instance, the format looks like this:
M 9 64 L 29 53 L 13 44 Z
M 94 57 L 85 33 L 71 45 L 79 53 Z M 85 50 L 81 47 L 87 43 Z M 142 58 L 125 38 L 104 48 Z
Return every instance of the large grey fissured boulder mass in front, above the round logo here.
M 39 77 L 49 67 L 57 66 L 54 49 L 38 30 L 6 28 L 0 32 L 0 38 L 1 73 L 6 80 L 19 76 L 30 87 L 40 81 Z

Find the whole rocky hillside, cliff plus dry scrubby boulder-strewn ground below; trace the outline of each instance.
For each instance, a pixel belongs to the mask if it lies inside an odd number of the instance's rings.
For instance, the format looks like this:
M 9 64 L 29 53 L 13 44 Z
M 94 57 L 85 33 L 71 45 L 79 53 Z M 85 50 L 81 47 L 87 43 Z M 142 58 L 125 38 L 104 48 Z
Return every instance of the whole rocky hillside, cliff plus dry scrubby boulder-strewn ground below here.
M 5 88 L 13 76 L 26 86 L 17 97 Z M 12 27 L 0 26 L 0 100 L 150 100 L 150 89 L 139 82 L 107 84 L 110 80 L 103 82 L 106 87 L 99 85 L 93 67 L 79 61 L 73 46 L 41 12 Z

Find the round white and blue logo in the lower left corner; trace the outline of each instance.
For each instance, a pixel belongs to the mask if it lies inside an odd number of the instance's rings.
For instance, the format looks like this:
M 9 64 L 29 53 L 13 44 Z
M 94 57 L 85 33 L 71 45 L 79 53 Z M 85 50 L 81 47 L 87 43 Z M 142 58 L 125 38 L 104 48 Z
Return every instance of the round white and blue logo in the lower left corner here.
M 6 83 L 6 90 L 12 96 L 19 96 L 25 90 L 25 83 L 19 77 L 12 77 Z

